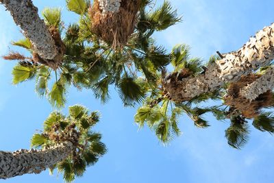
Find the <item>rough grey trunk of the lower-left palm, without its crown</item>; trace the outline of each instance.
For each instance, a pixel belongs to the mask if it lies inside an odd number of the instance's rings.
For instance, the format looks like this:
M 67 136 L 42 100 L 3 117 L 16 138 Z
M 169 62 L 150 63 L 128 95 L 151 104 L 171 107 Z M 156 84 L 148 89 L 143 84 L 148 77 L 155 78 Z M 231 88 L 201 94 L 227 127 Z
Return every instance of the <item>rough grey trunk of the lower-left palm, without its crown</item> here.
M 0 179 L 12 178 L 25 173 L 40 173 L 67 158 L 73 144 L 66 142 L 49 149 L 0 151 Z

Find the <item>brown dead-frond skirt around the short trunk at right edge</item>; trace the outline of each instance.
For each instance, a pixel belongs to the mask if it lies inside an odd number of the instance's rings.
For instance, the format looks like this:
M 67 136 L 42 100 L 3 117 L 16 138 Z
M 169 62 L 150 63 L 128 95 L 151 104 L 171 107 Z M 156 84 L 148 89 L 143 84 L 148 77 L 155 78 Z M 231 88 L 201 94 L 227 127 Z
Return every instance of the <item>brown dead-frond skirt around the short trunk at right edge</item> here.
M 225 97 L 225 104 L 232 106 L 242 112 L 246 118 L 254 118 L 259 114 L 260 109 L 272 106 L 274 103 L 273 93 L 269 90 L 259 95 L 255 100 L 249 101 L 245 97 L 240 97 L 240 89 L 256 81 L 261 75 L 245 75 L 238 82 L 230 84 Z

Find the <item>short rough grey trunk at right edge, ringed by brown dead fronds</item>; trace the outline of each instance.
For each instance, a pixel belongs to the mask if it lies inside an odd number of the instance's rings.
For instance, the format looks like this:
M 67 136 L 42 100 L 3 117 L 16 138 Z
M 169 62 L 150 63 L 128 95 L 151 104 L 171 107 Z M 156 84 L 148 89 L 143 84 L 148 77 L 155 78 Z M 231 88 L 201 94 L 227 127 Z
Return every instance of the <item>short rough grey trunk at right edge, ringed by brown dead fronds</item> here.
M 240 95 L 252 101 L 256 99 L 262 93 L 266 93 L 268 90 L 274 88 L 274 69 L 268 69 L 264 75 L 262 75 L 255 82 L 248 84 L 242 90 Z

